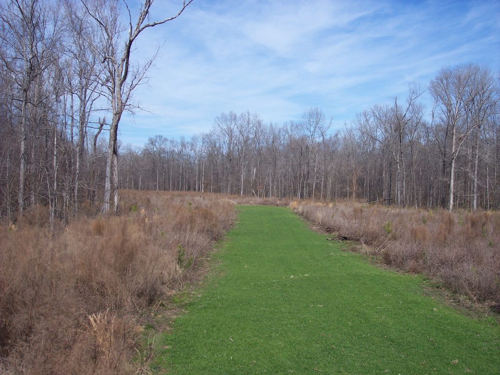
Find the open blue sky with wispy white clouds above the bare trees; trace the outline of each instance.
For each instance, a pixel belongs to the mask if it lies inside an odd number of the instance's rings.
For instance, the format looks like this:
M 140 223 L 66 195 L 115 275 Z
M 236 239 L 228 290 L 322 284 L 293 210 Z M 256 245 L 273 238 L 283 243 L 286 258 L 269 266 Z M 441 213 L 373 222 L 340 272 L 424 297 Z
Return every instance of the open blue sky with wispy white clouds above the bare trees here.
M 151 19 L 178 3 L 157 0 Z M 500 70 L 500 0 L 194 0 L 141 34 L 134 58 L 157 45 L 149 83 L 133 98 L 146 111 L 121 119 L 124 144 L 207 132 L 230 110 L 282 124 L 318 106 L 334 130 L 373 104 L 404 98 L 410 82 L 426 87 L 444 66 Z

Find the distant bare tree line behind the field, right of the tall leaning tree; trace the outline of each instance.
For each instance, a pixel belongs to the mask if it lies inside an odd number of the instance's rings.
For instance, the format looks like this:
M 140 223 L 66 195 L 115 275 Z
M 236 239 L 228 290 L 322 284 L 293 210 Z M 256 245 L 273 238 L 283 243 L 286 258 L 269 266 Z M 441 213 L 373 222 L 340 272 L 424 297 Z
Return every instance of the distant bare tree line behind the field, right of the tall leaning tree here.
M 249 111 L 222 113 L 190 140 L 155 135 L 125 146 L 120 186 L 498 208 L 498 79 L 460 65 L 441 69 L 428 90 L 432 108 L 411 85 L 406 97 L 372 105 L 337 131 L 317 107 L 282 125 Z

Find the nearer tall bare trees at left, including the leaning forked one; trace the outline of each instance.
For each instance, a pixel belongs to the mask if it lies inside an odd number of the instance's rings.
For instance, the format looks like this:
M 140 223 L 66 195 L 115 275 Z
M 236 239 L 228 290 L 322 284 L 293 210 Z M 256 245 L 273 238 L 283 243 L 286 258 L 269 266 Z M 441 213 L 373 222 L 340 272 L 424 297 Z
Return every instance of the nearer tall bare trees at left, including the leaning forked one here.
M 191 1 L 157 21 L 150 21 L 154 0 L 134 11 L 122 0 L 0 3 L 1 216 L 47 204 L 53 224 L 98 196 L 104 212 L 117 208 L 118 123 L 135 108 L 132 91 L 156 57 L 135 63 L 133 46 Z M 105 150 L 97 145 L 102 131 Z

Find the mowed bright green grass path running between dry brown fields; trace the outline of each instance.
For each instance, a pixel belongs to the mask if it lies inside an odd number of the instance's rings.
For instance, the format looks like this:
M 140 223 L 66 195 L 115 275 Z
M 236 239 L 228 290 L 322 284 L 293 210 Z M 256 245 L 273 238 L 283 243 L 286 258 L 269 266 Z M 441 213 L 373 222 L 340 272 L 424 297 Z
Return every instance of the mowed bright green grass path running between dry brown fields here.
M 287 208 L 243 206 L 216 272 L 160 337 L 171 374 L 498 374 L 500 328 L 342 251 Z

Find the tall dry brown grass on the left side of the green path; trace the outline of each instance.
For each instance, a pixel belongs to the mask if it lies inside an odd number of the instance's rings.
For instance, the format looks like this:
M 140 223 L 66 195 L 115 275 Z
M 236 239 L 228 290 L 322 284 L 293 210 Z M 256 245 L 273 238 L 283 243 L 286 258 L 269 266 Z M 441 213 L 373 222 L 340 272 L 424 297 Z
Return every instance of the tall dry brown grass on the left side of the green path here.
M 0 226 L 0 373 L 133 373 L 140 316 L 233 220 L 233 204 L 208 194 L 121 198 L 121 216 L 80 217 L 53 235 L 40 207 Z

